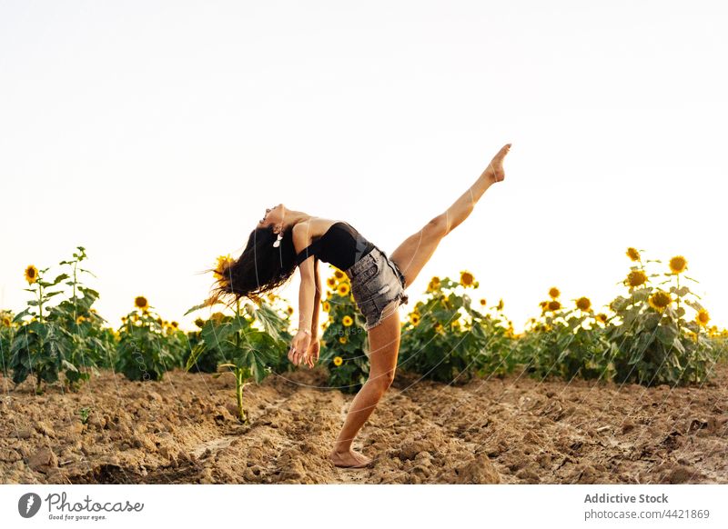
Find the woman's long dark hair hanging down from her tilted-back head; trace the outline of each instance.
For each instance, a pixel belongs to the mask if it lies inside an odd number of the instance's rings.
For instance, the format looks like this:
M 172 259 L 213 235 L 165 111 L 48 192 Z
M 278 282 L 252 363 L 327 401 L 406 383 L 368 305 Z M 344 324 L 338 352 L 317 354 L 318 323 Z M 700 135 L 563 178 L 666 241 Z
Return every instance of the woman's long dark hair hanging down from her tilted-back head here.
M 293 230 L 283 232 L 278 247 L 273 243 L 278 234 L 273 226 L 256 228 L 248 236 L 248 245 L 237 260 L 229 260 L 205 272 L 216 273 L 217 283 L 207 305 L 216 304 L 223 297 L 230 298 L 229 307 L 241 297 L 247 297 L 260 304 L 261 296 L 286 284 L 296 270 L 296 248 L 293 245 Z

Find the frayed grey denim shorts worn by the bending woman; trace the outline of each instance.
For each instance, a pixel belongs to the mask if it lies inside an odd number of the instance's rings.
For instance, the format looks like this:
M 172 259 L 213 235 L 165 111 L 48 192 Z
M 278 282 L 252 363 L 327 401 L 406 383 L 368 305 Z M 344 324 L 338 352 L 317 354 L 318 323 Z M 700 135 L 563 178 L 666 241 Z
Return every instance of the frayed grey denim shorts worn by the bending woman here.
M 404 274 L 376 245 L 344 272 L 349 276 L 351 295 L 366 319 L 367 331 L 409 300 L 404 292 Z

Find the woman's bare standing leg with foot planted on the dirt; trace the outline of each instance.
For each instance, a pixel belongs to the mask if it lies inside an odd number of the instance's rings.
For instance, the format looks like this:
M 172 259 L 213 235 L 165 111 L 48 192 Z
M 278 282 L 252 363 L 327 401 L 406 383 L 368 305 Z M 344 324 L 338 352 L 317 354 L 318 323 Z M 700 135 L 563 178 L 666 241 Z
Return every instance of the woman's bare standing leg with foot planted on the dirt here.
M 352 450 L 351 444 L 394 380 L 399 355 L 399 329 L 399 311 L 394 311 L 379 325 L 369 329 L 369 380 L 351 401 L 339 438 L 329 454 L 329 459 L 337 466 L 360 468 L 371 462 L 371 458 Z

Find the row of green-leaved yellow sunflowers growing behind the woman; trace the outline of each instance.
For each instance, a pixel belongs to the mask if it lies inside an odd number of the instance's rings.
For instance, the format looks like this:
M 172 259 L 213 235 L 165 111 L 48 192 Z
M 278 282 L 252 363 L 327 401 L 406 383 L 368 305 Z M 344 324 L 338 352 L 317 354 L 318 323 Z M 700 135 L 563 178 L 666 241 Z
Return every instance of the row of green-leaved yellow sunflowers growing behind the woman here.
M 690 289 L 697 281 L 685 274 L 687 260 L 678 255 L 666 265 L 643 261 L 632 247 L 626 255 L 632 265 L 619 283 L 624 291 L 610 304 L 597 310 L 587 296 L 562 303 L 552 286 L 538 303 L 540 314 L 520 334 L 502 299 L 489 306 L 477 294 L 479 282 L 469 271 L 460 271 L 457 280 L 433 276 L 403 318 L 399 370 L 446 384 L 511 373 L 645 386 L 703 384 L 713 365 L 726 358 L 728 332 L 710 324 L 708 309 Z M 244 386 L 294 368 L 287 357 L 294 311 L 277 295 L 256 304 L 238 302 L 231 313 L 197 317 L 197 328 L 184 331 L 136 294 L 132 310 L 113 327 L 93 306 L 99 294 L 82 281 L 91 274 L 83 267 L 86 258 L 78 246 L 55 276 L 49 268 L 25 268 L 27 306 L 17 314 L 0 311 L 5 378 L 20 384 L 30 377 L 41 394 L 56 383 L 74 391 L 100 369 L 139 382 L 161 380 L 173 369 L 230 374 L 238 418 L 245 422 Z M 219 257 L 217 270 L 227 260 Z M 369 339 L 349 278 L 332 268 L 320 306 L 327 317 L 318 367 L 330 387 L 356 393 L 369 376 Z

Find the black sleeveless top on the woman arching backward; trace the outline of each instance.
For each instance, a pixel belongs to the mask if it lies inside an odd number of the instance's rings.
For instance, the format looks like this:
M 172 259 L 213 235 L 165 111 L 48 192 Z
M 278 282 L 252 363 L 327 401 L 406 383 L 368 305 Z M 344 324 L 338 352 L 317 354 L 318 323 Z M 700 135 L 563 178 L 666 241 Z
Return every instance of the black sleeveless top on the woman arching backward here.
M 338 222 L 296 255 L 296 265 L 300 265 L 311 255 L 316 255 L 321 261 L 344 271 L 372 249 L 374 245 L 352 225 Z

